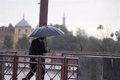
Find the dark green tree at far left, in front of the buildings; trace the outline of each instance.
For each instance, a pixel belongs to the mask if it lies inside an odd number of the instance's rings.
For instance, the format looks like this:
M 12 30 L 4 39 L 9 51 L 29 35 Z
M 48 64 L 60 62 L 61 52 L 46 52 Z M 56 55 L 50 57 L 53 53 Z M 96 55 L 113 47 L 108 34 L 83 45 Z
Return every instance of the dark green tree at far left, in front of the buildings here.
M 11 49 L 13 48 L 13 40 L 11 36 L 6 35 L 3 42 L 3 48 Z

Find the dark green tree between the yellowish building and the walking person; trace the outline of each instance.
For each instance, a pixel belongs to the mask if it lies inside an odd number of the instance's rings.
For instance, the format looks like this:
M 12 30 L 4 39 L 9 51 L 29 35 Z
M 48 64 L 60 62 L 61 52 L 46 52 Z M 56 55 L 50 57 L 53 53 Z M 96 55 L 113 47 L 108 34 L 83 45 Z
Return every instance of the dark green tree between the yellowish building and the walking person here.
M 29 46 L 30 46 L 29 39 L 25 35 L 18 40 L 18 43 L 16 45 L 18 49 L 28 49 Z

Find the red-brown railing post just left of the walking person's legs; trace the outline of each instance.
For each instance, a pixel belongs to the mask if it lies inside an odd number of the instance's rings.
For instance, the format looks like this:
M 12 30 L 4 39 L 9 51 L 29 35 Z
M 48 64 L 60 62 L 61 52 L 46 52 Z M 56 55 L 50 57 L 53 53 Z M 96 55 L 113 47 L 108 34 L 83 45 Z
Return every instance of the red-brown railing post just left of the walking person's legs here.
M 18 65 L 18 57 L 15 54 L 14 55 L 14 61 L 13 61 L 13 80 L 17 80 L 17 65 Z

